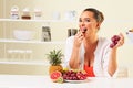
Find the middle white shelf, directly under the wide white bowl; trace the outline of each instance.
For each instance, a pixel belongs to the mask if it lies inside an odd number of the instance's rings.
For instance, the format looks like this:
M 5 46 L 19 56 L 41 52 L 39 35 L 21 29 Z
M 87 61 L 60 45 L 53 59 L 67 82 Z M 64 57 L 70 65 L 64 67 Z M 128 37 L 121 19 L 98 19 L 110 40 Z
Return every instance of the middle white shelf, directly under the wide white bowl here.
M 18 40 L 2 40 L 0 42 L 3 43 L 33 43 L 33 44 L 64 44 L 63 41 L 55 41 L 55 42 L 41 42 L 41 41 L 18 41 Z

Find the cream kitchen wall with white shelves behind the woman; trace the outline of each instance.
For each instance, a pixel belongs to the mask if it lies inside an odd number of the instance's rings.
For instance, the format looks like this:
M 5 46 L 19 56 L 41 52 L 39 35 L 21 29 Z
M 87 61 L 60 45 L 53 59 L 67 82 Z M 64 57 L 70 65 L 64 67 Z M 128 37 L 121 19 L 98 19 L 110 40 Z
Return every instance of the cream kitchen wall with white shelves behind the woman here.
M 47 75 L 45 54 L 53 48 L 64 53 L 68 30 L 79 29 L 81 11 L 92 7 L 104 13 L 100 36 L 110 40 L 120 32 L 124 34 L 125 44 L 117 52 L 119 67 L 127 68 L 129 77 L 133 77 L 133 43 L 126 36 L 133 29 L 132 3 L 132 0 L 0 0 L 0 73 Z M 14 6 L 19 8 L 19 20 L 11 19 Z M 30 12 L 31 20 L 21 20 L 24 11 Z M 34 11 L 41 15 L 34 18 Z M 42 26 L 50 26 L 51 42 L 42 41 Z M 33 31 L 34 36 L 30 41 L 18 41 L 16 30 Z

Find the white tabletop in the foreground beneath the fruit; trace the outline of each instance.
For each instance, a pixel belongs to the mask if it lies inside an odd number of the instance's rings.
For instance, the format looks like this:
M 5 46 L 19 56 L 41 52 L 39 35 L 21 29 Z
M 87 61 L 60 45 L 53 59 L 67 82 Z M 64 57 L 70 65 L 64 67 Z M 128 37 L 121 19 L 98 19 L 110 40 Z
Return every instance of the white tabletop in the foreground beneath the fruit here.
M 131 88 L 133 78 L 88 78 L 83 82 L 52 82 L 49 76 L 0 75 L 0 88 Z

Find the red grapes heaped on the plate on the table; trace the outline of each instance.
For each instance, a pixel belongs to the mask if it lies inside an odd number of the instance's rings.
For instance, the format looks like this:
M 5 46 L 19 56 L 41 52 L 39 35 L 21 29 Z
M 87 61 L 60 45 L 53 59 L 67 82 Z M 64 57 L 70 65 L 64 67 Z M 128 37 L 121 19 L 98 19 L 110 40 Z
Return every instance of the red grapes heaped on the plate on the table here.
M 74 72 L 74 70 L 68 70 L 63 73 L 63 79 L 66 80 L 84 80 L 86 79 L 86 74 L 80 72 Z

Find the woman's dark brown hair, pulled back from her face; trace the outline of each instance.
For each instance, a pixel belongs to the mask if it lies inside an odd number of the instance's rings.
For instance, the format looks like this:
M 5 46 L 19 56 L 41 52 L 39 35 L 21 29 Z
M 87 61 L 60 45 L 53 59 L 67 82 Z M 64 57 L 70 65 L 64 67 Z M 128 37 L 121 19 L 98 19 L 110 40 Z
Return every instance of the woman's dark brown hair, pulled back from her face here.
M 91 12 L 93 12 L 93 13 L 94 13 L 94 19 L 95 19 L 98 22 L 100 22 L 100 23 L 103 22 L 104 15 L 103 15 L 103 13 L 100 12 L 99 10 L 93 9 L 93 8 L 88 8 L 88 9 L 85 9 L 84 11 L 91 11 Z

